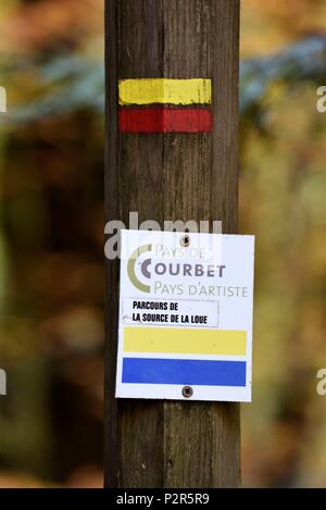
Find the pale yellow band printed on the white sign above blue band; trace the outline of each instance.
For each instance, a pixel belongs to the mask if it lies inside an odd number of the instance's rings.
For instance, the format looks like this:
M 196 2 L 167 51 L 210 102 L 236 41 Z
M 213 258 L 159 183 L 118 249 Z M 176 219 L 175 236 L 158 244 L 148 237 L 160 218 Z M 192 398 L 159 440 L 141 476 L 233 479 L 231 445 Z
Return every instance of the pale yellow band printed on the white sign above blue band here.
M 126 326 L 124 351 L 246 356 L 247 333 L 203 328 Z

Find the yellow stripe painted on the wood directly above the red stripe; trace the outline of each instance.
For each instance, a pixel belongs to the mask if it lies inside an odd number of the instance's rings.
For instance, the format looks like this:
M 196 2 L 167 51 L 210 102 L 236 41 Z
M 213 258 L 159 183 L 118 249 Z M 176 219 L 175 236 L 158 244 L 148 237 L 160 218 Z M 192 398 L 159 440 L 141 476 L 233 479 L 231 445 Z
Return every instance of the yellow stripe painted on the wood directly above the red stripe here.
M 212 82 L 208 78 L 170 79 L 140 78 L 121 79 L 118 102 L 128 104 L 210 104 Z

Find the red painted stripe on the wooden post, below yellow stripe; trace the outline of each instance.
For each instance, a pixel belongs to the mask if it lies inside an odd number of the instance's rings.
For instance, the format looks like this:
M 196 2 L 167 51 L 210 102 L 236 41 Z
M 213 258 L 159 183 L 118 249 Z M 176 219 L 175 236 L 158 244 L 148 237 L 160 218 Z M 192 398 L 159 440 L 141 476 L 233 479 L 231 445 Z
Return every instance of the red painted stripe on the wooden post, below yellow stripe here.
M 210 133 L 212 113 L 208 108 L 121 108 L 122 133 Z

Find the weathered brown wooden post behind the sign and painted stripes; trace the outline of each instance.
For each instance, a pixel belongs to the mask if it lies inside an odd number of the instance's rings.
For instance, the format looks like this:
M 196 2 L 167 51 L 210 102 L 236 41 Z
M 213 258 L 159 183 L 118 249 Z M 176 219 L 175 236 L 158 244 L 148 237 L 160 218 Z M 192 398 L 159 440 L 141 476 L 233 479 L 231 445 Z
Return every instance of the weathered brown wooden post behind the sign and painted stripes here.
M 239 0 L 106 0 L 106 221 L 237 232 Z M 211 78 L 212 133 L 118 133 L 117 80 Z M 118 262 L 106 263 L 105 486 L 237 487 L 239 405 L 114 398 Z

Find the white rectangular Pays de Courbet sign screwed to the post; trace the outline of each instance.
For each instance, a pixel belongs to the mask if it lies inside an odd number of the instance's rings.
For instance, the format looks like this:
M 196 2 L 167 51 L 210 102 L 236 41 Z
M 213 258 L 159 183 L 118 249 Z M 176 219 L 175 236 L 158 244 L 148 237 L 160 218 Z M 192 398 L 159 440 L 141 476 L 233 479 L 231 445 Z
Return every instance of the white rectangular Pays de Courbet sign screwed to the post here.
M 254 237 L 121 241 L 116 397 L 251 401 Z

